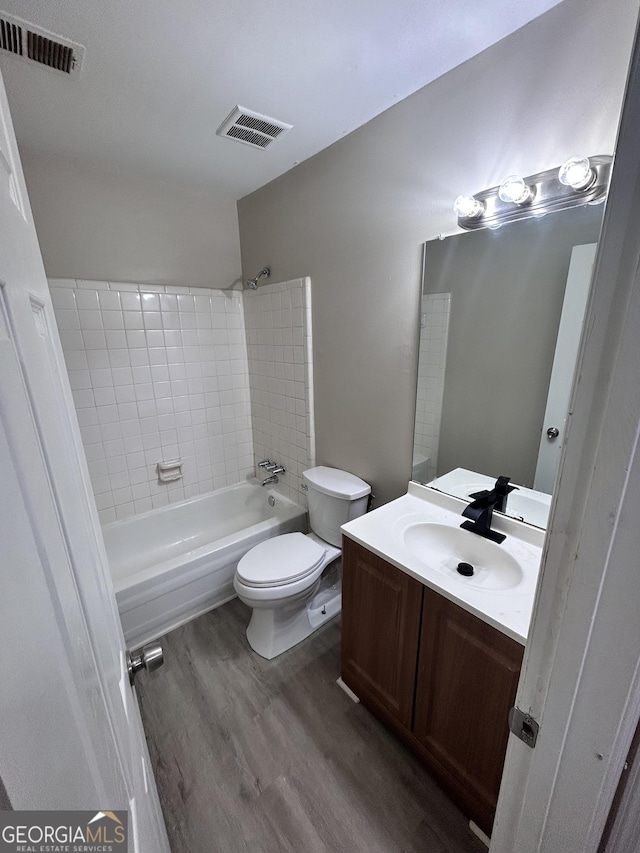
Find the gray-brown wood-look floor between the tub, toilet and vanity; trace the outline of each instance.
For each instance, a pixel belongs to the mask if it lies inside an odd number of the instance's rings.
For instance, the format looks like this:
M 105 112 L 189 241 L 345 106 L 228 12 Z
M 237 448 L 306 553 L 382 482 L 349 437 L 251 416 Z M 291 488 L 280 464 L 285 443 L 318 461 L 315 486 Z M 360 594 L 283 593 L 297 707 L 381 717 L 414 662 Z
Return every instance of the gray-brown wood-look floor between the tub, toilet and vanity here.
M 337 686 L 333 620 L 272 661 L 225 604 L 136 682 L 173 853 L 486 853 L 405 746 Z

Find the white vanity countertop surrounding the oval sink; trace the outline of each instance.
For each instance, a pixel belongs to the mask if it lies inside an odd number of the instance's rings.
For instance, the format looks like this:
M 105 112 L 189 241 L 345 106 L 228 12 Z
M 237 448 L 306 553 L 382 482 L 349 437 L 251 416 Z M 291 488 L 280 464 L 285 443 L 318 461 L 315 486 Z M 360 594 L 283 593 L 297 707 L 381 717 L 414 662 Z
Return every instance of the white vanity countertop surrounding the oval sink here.
M 527 640 L 545 532 L 515 519 L 493 516 L 491 528 L 507 538 L 497 547 L 514 557 L 523 579 L 510 589 L 482 589 L 473 578 L 430 566 L 429 556 L 418 557 L 403 541 L 411 524 L 433 522 L 459 528 L 468 501 L 428 486 L 409 483 L 406 495 L 342 526 L 345 536 L 368 548 L 425 586 L 459 604 L 522 645 Z M 462 531 L 463 535 L 477 534 Z

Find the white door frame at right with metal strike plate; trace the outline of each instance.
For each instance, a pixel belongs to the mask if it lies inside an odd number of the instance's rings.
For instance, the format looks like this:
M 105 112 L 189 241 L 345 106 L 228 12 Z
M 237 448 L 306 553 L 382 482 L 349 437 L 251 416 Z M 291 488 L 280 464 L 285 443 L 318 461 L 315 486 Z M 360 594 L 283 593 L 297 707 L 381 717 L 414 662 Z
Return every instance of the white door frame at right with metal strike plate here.
M 640 719 L 639 134 L 636 32 L 492 853 L 595 853 Z

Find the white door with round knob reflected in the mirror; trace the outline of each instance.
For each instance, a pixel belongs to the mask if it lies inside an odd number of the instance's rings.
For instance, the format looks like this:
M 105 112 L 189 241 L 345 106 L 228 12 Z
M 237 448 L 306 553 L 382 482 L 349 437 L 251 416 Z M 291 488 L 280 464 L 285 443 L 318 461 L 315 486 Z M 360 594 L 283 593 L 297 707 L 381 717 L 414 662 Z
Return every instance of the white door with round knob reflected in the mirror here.
M 533 481 L 534 489 L 549 495 L 553 492 L 560 463 L 596 248 L 596 243 L 587 243 L 574 246 L 571 252 Z

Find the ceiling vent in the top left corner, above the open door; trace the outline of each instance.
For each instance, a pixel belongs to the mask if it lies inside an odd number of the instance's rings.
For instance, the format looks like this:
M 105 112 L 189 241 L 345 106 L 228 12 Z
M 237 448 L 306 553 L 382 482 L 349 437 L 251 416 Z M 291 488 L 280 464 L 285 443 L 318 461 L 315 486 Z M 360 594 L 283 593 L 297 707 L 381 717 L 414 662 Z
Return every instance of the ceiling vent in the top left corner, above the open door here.
M 45 66 L 69 77 L 77 77 L 84 59 L 84 47 L 69 39 L 0 12 L 0 49 L 18 59 Z

